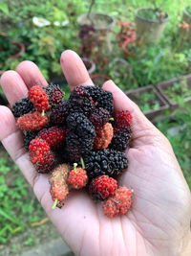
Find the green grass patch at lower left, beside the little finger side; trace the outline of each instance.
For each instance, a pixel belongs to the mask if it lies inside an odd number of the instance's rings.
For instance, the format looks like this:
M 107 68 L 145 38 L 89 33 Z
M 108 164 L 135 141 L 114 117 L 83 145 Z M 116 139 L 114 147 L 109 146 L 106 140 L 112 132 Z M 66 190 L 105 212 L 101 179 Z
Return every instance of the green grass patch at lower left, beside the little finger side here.
M 0 244 L 6 244 L 33 222 L 45 218 L 24 176 L 0 147 Z

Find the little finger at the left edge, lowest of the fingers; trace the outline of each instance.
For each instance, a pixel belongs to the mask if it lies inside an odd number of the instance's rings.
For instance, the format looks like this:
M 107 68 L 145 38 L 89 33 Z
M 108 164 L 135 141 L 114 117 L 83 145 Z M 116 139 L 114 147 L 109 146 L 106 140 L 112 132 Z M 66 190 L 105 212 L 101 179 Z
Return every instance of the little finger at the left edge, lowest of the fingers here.
M 3 105 L 0 106 L 0 140 L 11 155 L 12 160 L 32 185 L 36 171 L 24 149 L 22 132 L 16 127 L 10 108 Z

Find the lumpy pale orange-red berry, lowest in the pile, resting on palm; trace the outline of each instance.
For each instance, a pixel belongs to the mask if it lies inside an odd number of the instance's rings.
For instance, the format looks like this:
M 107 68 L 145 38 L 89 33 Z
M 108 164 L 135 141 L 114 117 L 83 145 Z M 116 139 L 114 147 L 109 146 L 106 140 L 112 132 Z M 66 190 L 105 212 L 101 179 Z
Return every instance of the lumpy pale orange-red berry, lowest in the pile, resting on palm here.
M 132 205 L 133 191 L 126 187 L 119 187 L 112 198 L 103 203 L 103 213 L 109 218 L 126 214 Z

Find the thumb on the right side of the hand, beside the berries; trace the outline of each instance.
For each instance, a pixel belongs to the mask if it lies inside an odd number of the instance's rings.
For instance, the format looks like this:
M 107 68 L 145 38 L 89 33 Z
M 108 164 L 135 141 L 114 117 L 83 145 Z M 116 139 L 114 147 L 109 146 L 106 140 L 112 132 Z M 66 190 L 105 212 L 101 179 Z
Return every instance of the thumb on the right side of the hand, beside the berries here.
M 113 93 L 115 110 L 129 110 L 133 116 L 132 130 L 134 146 L 153 143 L 155 135 L 160 135 L 159 130 L 144 116 L 134 102 L 132 102 L 114 83 L 106 81 L 103 90 Z

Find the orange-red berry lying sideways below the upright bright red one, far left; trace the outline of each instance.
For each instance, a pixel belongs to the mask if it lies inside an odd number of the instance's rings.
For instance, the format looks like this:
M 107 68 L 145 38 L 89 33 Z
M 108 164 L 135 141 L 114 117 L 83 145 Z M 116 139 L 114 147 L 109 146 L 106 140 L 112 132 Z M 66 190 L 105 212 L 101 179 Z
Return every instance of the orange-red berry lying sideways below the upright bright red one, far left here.
M 38 130 L 48 125 L 49 120 L 47 116 L 42 116 L 39 112 L 25 114 L 17 120 L 17 126 L 26 131 Z

